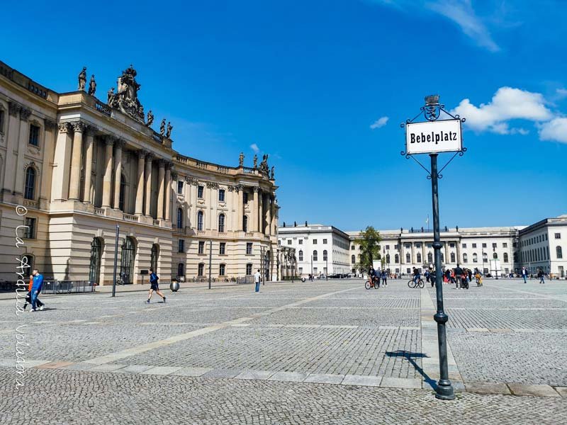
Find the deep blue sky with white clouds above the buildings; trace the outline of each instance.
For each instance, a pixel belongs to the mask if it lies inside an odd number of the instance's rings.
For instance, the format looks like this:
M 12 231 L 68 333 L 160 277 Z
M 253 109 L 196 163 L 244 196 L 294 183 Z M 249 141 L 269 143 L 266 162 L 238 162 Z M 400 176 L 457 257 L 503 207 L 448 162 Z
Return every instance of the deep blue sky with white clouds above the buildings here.
M 33 11 L 33 12 L 32 12 Z M 399 124 L 441 94 L 468 152 L 440 181 L 442 225 L 529 225 L 567 212 L 563 1 L 7 2 L 0 60 L 56 91 L 83 66 L 97 95 L 133 64 L 174 147 L 276 166 L 280 222 L 421 227 L 425 171 Z M 423 158 L 427 161 L 427 157 Z

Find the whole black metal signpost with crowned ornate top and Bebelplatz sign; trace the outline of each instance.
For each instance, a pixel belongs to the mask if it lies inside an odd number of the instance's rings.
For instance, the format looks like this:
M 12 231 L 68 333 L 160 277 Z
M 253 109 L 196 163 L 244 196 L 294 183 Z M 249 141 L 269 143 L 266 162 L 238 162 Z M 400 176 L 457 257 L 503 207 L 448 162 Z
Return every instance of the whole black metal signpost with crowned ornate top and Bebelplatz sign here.
M 444 113 L 444 119 L 440 119 L 441 113 Z M 424 115 L 425 122 L 416 122 L 415 120 Z M 412 120 L 406 120 L 401 124 L 406 129 L 406 148 L 401 152 L 407 159 L 413 159 L 420 164 L 422 169 L 427 171 L 427 179 L 431 179 L 432 192 L 432 208 L 433 208 L 433 249 L 435 262 L 435 288 L 437 295 L 437 313 L 434 320 L 437 322 L 437 337 L 439 344 L 439 376 L 435 388 L 438 399 L 452 400 L 455 398 L 455 392 L 451 380 L 449 380 L 449 368 L 447 366 L 447 331 L 445 324 L 449 317 L 444 311 L 443 306 L 443 278 L 442 278 L 442 261 L 441 261 L 441 237 L 439 234 L 439 184 L 438 180 L 442 179 L 441 171 L 449 165 L 456 155 L 463 156 L 466 148 L 462 146 L 461 139 L 461 123 L 464 118 L 459 115 L 451 115 L 444 110 L 444 105 L 439 103 L 439 95 L 427 96 L 425 98 L 425 106 L 421 107 L 421 112 Z M 428 124 L 437 125 L 428 125 Z M 410 125 L 419 124 L 419 130 L 410 133 Z M 416 127 L 416 126 L 414 126 Z M 437 156 L 439 152 L 455 152 L 449 162 L 442 169 L 437 169 Z M 429 154 L 431 158 L 431 171 L 423 166 L 414 154 Z

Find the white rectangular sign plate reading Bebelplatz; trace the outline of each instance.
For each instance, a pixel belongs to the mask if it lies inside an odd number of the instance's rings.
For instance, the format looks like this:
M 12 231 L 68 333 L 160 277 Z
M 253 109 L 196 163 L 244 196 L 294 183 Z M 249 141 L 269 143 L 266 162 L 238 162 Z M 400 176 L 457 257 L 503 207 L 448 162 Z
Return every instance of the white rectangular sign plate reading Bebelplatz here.
M 462 147 L 461 120 L 426 121 L 405 125 L 405 152 L 410 155 L 458 152 Z

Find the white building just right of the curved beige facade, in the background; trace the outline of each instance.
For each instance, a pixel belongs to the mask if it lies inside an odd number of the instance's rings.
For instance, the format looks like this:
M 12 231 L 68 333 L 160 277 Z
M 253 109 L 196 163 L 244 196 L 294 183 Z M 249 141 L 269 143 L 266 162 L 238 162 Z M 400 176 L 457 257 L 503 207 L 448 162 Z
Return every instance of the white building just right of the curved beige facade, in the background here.
M 279 227 L 278 244 L 294 248 L 298 276 L 350 273 L 349 235 L 336 227 L 294 225 Z

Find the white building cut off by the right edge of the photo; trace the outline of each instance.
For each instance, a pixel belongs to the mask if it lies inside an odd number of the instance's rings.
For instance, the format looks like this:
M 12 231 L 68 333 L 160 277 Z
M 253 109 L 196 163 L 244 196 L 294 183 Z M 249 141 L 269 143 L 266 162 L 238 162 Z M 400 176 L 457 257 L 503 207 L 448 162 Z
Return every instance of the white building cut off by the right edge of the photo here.
M 567 214 L 546 218 L 520 230 L 520 266 L 529 273 L 541 268 L 553 277 L 564 278 L 567 270 Z

